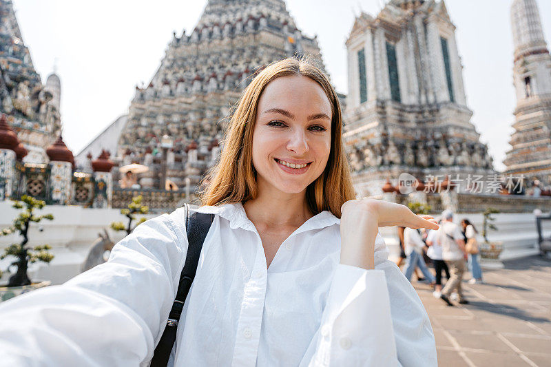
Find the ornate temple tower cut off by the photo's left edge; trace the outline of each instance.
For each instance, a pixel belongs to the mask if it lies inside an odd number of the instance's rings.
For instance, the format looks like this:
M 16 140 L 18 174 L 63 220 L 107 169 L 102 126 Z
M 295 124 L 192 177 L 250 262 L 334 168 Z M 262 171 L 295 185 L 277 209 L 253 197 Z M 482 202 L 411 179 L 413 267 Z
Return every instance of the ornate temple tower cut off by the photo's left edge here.
M 50 75 L 46 85 L 23 43 L 12 1 L 0 0 L 0 112 L 28 149 L 25 162 L 48 162 L 45 149 L 61 133 L 59 77 Z

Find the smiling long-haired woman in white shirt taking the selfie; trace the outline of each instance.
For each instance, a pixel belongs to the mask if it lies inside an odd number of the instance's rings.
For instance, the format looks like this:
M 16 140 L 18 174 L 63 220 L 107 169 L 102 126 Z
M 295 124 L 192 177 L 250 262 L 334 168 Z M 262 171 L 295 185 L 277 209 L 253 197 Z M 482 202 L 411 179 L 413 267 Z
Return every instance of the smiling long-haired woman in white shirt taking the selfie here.
M 229 123 L 213 213 L 169 366 L 437 366 L 428 315 L 378 227 L 430 216 L 354 200 L 329 79 L 307 59 L 260 72 Z M 109 261 L 0 306 L 6 366 L 147 366 L 187 253 L 181 209 Z

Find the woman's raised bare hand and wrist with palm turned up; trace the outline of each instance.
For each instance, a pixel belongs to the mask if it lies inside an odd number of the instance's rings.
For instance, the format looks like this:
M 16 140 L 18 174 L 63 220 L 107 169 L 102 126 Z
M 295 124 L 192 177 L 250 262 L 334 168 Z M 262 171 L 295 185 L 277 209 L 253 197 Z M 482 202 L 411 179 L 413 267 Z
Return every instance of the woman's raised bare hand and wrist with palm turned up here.
M 404 205 L 375 199 L 349 200 L 341 207 L 340 263 L 373 269 L 379 227 L 438 229 L 432 216 L 417 216 Z

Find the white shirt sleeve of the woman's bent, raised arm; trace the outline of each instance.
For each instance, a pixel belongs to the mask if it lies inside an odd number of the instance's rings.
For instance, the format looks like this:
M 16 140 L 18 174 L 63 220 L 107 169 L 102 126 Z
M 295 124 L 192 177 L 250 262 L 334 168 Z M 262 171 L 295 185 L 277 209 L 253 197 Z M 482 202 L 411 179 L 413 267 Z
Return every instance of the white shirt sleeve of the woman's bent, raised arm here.
M 377 242 L 384 244 L 380 235 Z M 374 270 L 337 266 L 306 356 L 301 366 L 437 366 L 421 300 L 397 266 L 381 259 Z

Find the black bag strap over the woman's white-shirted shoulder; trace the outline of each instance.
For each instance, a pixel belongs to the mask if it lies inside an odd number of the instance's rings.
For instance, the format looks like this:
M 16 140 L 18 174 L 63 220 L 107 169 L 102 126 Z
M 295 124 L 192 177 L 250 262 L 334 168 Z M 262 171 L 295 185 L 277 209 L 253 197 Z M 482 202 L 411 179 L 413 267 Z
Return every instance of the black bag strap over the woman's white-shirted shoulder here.
M 166 367 L 168 364 L 170 352 L 174 342 L 176 342 L 176 330 L 184 308 L 185 298 L 197 271 L 202 244 L 205 242 L 205 237 L 207 237 L 214 220 L 214 214 L 197 213 L 196 211 L 190 213 L 187 204 L 184 205 L 184 215 L 188 242 L 184 269 L 180 273 L 180 284 L 178 284 L 176 300 L 174 300 L 168 316 L 167 326 L 165 326 L 165 331 L 160 337 L 149 365 L 151 367 Z

